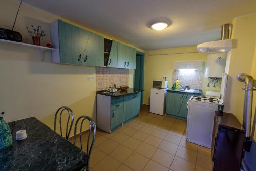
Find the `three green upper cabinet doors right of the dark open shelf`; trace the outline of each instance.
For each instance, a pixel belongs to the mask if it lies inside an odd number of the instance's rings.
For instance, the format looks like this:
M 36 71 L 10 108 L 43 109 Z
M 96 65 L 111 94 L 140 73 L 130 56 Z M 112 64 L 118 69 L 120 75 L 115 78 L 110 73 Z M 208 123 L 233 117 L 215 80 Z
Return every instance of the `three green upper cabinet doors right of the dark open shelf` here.
M 136 49 L 112 40 L 107 67 L 136 69 Z

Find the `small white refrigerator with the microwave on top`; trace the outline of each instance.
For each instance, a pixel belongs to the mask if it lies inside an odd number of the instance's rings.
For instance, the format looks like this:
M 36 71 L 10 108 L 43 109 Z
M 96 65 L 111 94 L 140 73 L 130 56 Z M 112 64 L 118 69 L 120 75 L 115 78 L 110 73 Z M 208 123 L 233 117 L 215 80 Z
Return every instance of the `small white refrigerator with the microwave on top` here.
M 158 115 L 165 114 L 166 89 L 151 88 L 150 112 Z

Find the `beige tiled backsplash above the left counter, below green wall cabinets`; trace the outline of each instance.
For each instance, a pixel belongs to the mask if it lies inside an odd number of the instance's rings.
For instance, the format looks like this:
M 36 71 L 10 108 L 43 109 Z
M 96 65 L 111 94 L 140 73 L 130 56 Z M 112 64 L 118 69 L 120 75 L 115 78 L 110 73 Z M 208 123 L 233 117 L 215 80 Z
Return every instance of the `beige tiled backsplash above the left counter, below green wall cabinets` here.
M 128 69 L 96 67 L 96 90 L 106 89 L 116 84 L 128 85 Z

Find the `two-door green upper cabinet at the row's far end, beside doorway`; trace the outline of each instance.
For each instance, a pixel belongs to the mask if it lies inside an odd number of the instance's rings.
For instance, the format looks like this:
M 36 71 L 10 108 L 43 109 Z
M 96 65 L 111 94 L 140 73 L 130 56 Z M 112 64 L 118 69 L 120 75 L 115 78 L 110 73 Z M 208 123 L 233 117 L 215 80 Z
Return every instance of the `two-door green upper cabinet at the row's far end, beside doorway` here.
M 136 49 L 118 42 L 118 68 L 136 69 Z

